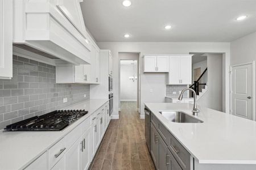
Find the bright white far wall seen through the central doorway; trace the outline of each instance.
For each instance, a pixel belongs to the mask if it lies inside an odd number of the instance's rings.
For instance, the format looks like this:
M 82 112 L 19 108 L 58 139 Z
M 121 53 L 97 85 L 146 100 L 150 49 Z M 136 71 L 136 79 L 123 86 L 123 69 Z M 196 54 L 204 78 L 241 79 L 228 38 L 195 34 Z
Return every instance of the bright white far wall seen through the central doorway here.
M 129 76 L 137 76 L 137 61 L 134 65 L 122 63 L 120 65 L 120 100 L 137 101 L 137 79 L 134 81 Z

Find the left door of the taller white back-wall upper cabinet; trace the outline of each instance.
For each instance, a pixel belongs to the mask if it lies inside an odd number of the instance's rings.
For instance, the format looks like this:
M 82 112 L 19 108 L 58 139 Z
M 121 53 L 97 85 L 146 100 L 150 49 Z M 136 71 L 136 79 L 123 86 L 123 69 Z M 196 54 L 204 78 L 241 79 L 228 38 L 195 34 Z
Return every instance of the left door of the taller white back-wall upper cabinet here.
M 169 84 L 180 84 L 180 58 L 170 56 Z

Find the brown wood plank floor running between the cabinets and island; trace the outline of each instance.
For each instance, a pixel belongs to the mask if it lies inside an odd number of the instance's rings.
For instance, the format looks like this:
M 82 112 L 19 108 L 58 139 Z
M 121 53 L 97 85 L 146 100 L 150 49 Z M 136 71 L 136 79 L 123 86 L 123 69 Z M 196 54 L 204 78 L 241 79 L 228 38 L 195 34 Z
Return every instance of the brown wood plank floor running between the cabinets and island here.
M 121 103 L 119 120 L 110 121 L 91 169 L 155 169 L 136 106 L 135 102 Z

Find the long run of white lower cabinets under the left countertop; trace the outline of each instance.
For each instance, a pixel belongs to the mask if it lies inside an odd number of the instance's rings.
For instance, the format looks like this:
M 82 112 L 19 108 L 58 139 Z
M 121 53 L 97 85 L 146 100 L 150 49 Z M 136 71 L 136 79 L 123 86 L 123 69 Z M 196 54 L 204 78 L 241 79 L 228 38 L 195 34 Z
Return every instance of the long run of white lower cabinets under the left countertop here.
M 24 169 L 88 169 L 109 121 L 109 103 L 106 103 Z

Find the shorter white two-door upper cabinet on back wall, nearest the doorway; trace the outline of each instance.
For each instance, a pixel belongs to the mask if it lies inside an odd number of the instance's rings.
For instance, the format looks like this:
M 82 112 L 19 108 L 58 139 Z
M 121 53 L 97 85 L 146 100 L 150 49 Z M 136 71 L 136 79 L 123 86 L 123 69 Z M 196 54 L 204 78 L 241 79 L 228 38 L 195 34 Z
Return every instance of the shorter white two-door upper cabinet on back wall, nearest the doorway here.
M 144 73 L 168 73 L 169 56 L 144 56 Z

